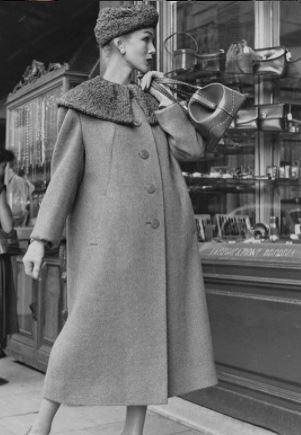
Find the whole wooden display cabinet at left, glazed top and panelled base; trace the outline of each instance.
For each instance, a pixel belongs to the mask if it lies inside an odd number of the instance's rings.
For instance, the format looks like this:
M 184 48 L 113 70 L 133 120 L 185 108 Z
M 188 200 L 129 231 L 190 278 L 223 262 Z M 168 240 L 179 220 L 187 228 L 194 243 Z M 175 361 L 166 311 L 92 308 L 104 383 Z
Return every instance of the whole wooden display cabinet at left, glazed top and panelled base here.
M 8 339 L 6 351 L 16 360 L 45 371 L 49 352 L 67 318 L 65 244 L 46 251 L 39 281 L 24 273 L 22 257 L 39 205 L 50 180 L 50 163 L 57 136 L 57 99 L 87 79 L 67 64 L 48 69 L 33 61 L 7 99 L 6 148 L 16 156 L 17 187 L 29 186 L 27 197 L 7 186 L 20 253 L 12 257 L 19 332 Z

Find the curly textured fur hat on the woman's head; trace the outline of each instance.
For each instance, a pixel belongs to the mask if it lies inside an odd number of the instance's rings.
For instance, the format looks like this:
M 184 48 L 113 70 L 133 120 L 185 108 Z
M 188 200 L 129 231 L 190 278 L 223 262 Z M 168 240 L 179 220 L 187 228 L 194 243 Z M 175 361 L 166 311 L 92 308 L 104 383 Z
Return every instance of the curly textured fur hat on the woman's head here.
M 94 27 L 96 41 L 98 45 L 104 46 L 117 36 L 145 27 L 155 27 L 158 18 L 156 9 L 146 4 L 100 9 Z

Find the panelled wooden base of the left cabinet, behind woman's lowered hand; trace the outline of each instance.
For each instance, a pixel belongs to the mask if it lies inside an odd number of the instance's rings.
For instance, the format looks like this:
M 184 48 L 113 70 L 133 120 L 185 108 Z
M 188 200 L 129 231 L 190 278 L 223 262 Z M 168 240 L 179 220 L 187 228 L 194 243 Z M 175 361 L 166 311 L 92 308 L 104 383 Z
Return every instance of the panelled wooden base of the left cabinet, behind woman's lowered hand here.
M 19 332 L 9 338 L 7 352 L 46 371 L 51 347 L 67 318 L 63 264 L 56 254 L 47 255 L 38 281 L 25 275 L 21 255 L 13 257 L 12 264 Z

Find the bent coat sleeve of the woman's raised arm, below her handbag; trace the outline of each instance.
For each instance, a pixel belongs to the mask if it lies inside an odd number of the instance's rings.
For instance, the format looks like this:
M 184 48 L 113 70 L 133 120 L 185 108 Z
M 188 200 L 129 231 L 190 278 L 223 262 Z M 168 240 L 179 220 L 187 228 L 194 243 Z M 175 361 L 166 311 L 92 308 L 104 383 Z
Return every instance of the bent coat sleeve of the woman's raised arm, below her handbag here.
M 177 160 L 196 161 L 204 155 L 205 144 L 202 136 L 178 104 L 157 110 L 156 117 L 168 136 L 169 146 Z

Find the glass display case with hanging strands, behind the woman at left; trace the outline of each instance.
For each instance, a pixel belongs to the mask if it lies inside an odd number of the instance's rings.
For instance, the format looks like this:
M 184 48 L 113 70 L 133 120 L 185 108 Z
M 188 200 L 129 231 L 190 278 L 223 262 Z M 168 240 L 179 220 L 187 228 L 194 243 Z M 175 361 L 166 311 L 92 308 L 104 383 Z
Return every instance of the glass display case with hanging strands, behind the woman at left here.
M 87 78 L 54 64 L 48 70 L 33 61 L 7 99 L 6 148 L 15 155 L 6 179 L 15 226 L 34 225 L 50 180 L 50 162 L 57 135 L 57 99 Z

